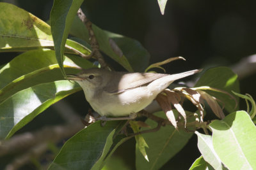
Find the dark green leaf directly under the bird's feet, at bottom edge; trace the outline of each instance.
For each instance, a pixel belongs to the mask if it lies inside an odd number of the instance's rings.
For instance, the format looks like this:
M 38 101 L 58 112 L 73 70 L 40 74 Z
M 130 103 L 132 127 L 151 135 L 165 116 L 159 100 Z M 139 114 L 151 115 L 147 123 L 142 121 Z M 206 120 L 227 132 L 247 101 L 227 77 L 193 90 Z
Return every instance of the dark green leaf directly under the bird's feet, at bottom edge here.
M 102 155 L 108 153 L 116 129 L 123 125 L 124 122 L 120 121 L 109 121 L 104 127 L 100 125 L 100 121 L 89 125 L 68 139 L 49 169 L 92 169 Z

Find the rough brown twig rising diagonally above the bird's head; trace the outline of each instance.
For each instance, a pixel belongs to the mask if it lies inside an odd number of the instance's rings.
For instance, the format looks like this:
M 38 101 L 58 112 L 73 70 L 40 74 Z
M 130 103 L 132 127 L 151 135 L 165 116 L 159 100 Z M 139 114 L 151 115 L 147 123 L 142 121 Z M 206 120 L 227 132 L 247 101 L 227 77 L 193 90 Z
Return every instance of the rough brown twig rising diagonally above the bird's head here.
M 79 8 L 79 10 L 77 11 L 77 16 L 80 18 L 80 20 L 84 23 L 84 25 L 88 29 L 88 33 L 90 36 L 90 45 L 92 47 L 92 53 L 88 55 L 86 58 L 88 57 L 90 58 L 94 56 L 99 61 L 100 67 L 107 67 L 106 62 L 104 61 L 103 56 L 100 53 L 99 44 L 97 42 L 97 39 L 92 29 L 92 22 L 90 22 L 90 20 L 84 15 L 81 8 Z

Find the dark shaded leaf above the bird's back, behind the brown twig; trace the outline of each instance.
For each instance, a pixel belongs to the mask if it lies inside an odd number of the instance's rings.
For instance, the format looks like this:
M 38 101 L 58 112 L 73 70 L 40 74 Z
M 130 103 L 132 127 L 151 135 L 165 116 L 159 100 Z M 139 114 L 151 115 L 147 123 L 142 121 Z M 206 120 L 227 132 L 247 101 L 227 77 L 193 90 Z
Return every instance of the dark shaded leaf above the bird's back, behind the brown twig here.
M 120 34 L 104 31 L 96 25 L 93 25 L 93 31 L 95 31 L 95 36 L 99 41 L 100 50 L 122 65 L 127 71 L 143 72 L 148 66 L 150 54 L 143 48 L 140 42 Z M 74 18 L 70 34 L 90 43 L 88 30 L 78 17 Z M 119 56 L 114 52 L 109 39 L 115 41 L 124 55 Z

